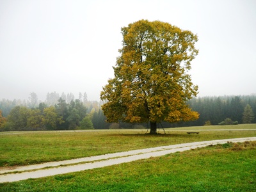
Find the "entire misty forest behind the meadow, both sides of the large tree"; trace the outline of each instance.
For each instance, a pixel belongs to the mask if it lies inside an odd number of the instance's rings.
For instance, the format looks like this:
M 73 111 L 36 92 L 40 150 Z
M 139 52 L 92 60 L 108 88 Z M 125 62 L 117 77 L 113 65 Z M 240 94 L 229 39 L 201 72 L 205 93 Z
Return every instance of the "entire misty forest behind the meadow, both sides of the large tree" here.
M 46 100 L 38 100 L 30 93 L 28 100 L 0 100 L 0 131 L 40 131 L 75 129 L 147 129 L 148 124 L 106 122 L 101 109 L 104 102 L 90 101 L 86 93 L 47 93 Z M 255 124 L 256 95 L 194 97 L 188 105 L 197 111 L 198 120 L 157 124 L 158 128 Z

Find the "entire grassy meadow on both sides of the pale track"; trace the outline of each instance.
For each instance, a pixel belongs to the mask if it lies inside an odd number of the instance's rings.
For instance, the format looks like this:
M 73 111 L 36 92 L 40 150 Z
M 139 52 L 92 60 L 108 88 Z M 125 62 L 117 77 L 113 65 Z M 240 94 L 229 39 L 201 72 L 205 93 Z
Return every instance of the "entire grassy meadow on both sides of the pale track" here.
M 223 131 L 225 129 L 225 131 Z M 237 129 L 242 129 L 237 130 Z M 247 130 L 249 129 L 249 130 Z M 17 166 L 111 152 L 256 136 L 256 125 L 146 130 L 1 132 L 0 164 Z M 200 134 L 187 134 L 199 130 Z M 0 191 L 254 191 L 256 142 L 227 143 L 131 163 L 0 184 Z

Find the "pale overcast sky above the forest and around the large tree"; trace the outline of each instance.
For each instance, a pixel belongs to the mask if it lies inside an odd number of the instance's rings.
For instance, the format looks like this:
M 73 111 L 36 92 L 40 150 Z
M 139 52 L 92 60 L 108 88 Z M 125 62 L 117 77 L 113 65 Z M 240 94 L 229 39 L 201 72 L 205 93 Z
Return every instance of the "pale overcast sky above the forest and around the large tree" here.
M 198 35 L 198 96 L 256 93 L 256 1 L 0 0 L 0 99 L 86 92 L 113 77 L 120 29 L 140 19 Z

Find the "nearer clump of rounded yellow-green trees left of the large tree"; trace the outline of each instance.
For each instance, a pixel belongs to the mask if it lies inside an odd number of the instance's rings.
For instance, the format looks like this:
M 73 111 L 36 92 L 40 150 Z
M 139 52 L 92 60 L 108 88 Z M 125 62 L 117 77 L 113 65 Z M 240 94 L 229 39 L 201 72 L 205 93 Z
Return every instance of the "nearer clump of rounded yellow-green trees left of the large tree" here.
M 5 121 L 3 131 L 93 129 L 86 107 L 78 99 L 67 104 L 60 98 L 54 106 L 40 103 L 36 108 L 15 106 Z

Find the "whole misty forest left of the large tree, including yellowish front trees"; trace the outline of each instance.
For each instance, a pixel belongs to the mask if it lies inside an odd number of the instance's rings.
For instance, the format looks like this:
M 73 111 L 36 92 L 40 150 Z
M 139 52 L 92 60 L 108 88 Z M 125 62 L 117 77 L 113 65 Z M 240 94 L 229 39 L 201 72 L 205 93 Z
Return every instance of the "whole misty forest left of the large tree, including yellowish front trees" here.
M 65 99 L 62 99 L 64 97 Z M 99 102 L 88 101 L 87 95 L 79 93 L 47 93 L 45 102 L 39 102 L 36 93 L 29 100 L 0 101 L 1 131 L 37 131 L 64 129 L 93 129 L 92 112 L 99 111 Z

